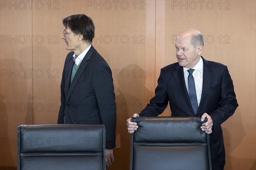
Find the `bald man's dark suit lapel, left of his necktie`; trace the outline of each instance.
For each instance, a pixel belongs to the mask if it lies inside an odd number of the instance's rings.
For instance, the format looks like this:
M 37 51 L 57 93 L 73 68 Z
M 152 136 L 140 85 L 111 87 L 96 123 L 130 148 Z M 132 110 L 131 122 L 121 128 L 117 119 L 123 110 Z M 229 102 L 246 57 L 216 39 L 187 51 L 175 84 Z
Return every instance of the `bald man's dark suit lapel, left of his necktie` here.
M 180 92 L 182 93 L 182 97 L 184 98 L 187 106 L 189 106 L 190 111 L 193 113 L 193 116 L 195 116 L 194 110 L 193 110 L 190 100 L 189 100 L 189 94 L 186 89 L 183 67 L 181 67 L 177 64 L 177 66 L 175 66 L 175 68 L 177 70 L 175 72 L 173 72 L 173 75 L 175 77 L 177 86 L 180 88 Z

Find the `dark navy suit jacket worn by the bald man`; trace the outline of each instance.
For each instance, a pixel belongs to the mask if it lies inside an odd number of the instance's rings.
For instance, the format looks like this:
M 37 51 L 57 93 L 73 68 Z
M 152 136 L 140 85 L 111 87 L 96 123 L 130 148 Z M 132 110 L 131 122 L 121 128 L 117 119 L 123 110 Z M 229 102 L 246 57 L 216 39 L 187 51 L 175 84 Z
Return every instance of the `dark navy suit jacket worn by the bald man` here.
M 219 168 L 225 164 L 221 124 L 233 115 L 238 104 L 227 66 L 204 58 L 203 63 L 203 89 L 197 113 L 193 111 L 189 101 L 183 67 L 179 66 L 179 63 L 173 63 L 161 69 L 155 96 L 140 116 L 158 116 L 167 107 L 168 102 L 172 116 L 201 117 L 206 112 L 213 121 L 210 134 L 212 168 Z

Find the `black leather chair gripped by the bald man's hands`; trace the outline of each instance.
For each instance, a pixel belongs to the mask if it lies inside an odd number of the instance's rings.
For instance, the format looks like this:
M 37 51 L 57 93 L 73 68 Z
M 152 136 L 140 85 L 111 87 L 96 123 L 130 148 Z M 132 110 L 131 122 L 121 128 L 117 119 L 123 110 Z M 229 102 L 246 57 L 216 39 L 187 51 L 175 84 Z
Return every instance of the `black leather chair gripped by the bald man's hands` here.
M 209 135 L 200 118 L 137 117 L 130 170 L 212 170 Z

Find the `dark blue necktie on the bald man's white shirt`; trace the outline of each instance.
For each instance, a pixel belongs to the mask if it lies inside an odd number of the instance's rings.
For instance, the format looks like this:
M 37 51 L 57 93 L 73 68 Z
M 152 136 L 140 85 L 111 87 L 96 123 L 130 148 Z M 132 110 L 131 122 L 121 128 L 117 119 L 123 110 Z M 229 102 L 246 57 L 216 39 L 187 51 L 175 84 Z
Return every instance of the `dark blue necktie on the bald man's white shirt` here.
M 189 69 L 187 70 L 189 72 L 189 77 L 188 77 L 188 86 L 189 86 L 189 99 L 190 99 L 190 103 L 192 105 L 192 108 L 195 112 L 195 114 L 197 113 L 198 110 L 198 101 L 197 101 L 197 97 L 196 97 L 196 91 L 195 91 L 195 80 L 193 77 L 193 72 L 194 69 Z

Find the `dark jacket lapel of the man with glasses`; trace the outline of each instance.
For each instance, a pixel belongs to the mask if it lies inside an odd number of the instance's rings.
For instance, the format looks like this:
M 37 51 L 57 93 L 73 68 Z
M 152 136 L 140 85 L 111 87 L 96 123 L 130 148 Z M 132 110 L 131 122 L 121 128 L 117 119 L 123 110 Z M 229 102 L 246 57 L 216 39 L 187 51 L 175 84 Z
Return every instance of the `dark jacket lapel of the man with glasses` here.
M 93 54 L 93 52 L 95 51 L 95 49 L 93 48 L 93 46 L 90 47 L 89 51 L 86 53 L 86 55 L 84 56 L 84 59 L 81 61 L 80 63 L 80 66 L 79 68 L 77 69 L 76 71 L 76 74 L 73 78 L 73 81 L 71 82 L 70 84 L 70 88 L 68 90 L 68 94 L 67 94 L 67 101 L 68 99 L 70 98 L 70 95 L 73 91 L 73 89 L 75 88 L 77 82 L 79 81 L 79 78 L 81 77 L 81 75 L 83 74 L 84 72 L 84 69 L 86 68 L 86 66 L 88 65 L 88 62 L 87 60 L 89 60 Z M 70 81 L 70 78 L 71 78 L 71 73 L 72 73 L 72 69 L 73 69 L 73 66 L 71 67 L 71 71 L 70 71 L 70 75 L 69 75 L 69 81 Z

